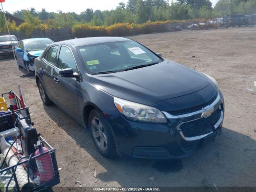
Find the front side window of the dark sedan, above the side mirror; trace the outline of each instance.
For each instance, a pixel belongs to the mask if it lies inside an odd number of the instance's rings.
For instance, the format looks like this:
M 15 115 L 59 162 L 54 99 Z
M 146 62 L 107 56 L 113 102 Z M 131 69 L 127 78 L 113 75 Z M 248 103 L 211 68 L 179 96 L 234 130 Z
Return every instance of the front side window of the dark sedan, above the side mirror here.
M 62 46 L 60 48 L 60 54 L 58 59 L 58 68 L 60 69 L 66 69 L 66 68 L 72 68 L 73 72 L 76 72 L 76 62 L 73 57 L 72 52 L 69 48 Z

